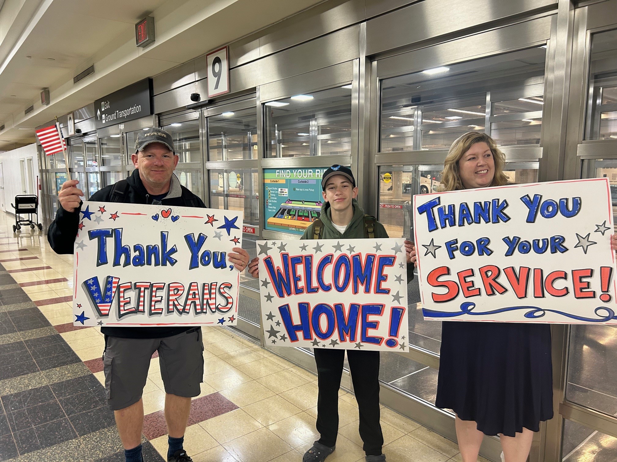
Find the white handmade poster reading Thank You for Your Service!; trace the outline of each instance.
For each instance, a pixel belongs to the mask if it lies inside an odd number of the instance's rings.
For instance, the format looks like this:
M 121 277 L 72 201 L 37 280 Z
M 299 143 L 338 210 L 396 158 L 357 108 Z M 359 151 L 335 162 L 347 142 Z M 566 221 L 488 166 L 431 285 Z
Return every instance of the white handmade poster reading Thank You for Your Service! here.
M 424 318 L 617 324 L 608 179 L 413 198 Z

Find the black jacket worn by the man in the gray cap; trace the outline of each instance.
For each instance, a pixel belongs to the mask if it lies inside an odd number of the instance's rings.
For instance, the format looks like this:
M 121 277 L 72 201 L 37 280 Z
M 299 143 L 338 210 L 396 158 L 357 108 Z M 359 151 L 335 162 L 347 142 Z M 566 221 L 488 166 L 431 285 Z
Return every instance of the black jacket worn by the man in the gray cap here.
M 152 202 L 150 195 L 144 188 L 139 171 L 135 169 L 133 174 L 128 177 L 128 190 L 120 200 L 129 204 L 149 204 Z M 109 202 L 114 185 L 109 185 L 94 193 L 91 201 Z M 172 175 L 172 185 L 167 196 L 161 201 L 162 205 L 172 206 L 197 206 L 205 208 L 204 202 L 190 192 L 187 188 L 180 185 L 180 181 Z M 58 207 L 56 219 L 49 225 L 47 240 L 54 252 L 58 254 L 72 254 L 77 237 L 77 226 L 79 225 L 79 211 L 67 212 L 61 206 Z M 112 337 L 122 338 L 162 338 L 180 334 L 194 327 L 102 327 L 101 333 Z

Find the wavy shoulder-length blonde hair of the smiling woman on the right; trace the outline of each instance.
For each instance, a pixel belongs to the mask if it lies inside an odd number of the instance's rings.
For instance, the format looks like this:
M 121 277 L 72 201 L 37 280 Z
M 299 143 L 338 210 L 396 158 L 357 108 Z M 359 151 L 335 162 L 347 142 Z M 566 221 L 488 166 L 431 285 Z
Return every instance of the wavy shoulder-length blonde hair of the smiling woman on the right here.
M 508 177 L 505 173 L 503 173 L 505 155 L 503 155 L 503 152 L 499 150 L 495 140 L 486 133 L 467 132 L 463 136 L 458 137 L 458 139 L 452 143 L 448 155 L 445 156 L 444 171 L 441 172 L 441 186 L 439 187 L 440 192 L 465 189 L 465 187 L 463 187 L 463 182 L 461 181 L 458 161 L 460 161 L 463 154 L 471 148 L 471 145 L 482 142 L 486 143 L 489 148 L 491 148 L 493 160 L 495 162 L 495 176 L 489 186 L 503 186 L 508 184 Z

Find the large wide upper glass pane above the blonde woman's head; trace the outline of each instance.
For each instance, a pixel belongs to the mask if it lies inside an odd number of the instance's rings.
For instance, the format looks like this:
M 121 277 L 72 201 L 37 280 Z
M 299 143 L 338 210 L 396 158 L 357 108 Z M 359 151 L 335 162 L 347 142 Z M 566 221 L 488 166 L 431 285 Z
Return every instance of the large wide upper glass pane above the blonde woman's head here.
M 542 47 L 384 79 L 380 152 L 448 149 L 468 131 L 502 146 L 540 143 Z

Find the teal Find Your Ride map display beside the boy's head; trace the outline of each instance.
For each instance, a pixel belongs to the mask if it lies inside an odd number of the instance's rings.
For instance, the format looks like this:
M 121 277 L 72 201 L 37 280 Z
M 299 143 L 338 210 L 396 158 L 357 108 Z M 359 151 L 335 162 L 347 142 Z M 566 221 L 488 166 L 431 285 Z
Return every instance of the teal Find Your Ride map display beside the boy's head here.
M 265 229 L 302 234 L 320 215 L 325 168 L 265 169 Z

